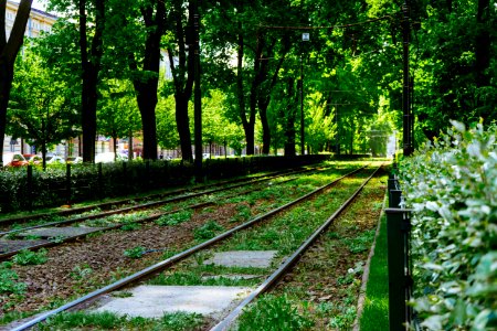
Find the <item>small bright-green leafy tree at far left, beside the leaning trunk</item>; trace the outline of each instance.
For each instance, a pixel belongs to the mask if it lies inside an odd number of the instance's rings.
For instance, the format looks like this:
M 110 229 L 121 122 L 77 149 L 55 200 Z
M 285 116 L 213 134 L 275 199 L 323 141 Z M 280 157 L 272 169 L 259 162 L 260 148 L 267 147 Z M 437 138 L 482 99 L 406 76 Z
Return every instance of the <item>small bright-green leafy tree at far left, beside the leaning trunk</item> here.
M 45 168 L 47 149 L 76 136 L 78 104 L 73 100 L 77 94 L 30 49 L 18 60 L 15 72 L 12 83 L 15 105 L 9 107 L 8 131 L 41 150 Z

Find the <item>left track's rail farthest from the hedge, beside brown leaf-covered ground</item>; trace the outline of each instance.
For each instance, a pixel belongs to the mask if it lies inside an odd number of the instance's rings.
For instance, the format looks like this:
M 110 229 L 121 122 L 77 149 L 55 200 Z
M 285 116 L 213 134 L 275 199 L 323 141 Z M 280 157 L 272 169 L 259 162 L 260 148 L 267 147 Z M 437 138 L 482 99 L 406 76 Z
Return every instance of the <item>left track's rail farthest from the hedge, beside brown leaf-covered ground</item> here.
M 287 179 L 285 181 L 278 182 L 278 184 L 290 182 L 290 181 L 294 181 L 297 178 Z M 231 197 L 237 196 L 240 194 L 246 194 L 246 193 L 251 193 L 251 192 L 258 191 L 258 190 L 262 190 L 262 189 L 261 188 L 251 189 L 251 190 L 247 190 L 247 191 L 244 191 L 244 192 L 239 192 L 239 193 L 236 193 L 234 195 L 225 196 L 224 199 L 231 199 Z M 120 227 L 123 227 L 125 225 L 128 225 L 128 224 L 135 224 L 135 223 L 136 224 L 141 224 L 141 223 L 152 222 L 152 221 L 159 220 L 163 215 L 173 214 L 173 213 L 178 213 L 178 212 L 190 210 L 190 209 L 200 209 L 200 207 L 212 205 L 212 204 L 214 204 L 214 202 L 212 202 L 212 201 L 200 202 L 200 203 L 195 203 L 195 204 L 192 204 L 192 205 L 189 205 L 189 206 L 186 206 L 186 207 L 181 207 L 181 209 L 178 209 L 178 210 L 169 211 L 169 212 L 159 212 L 159 213 L 156 213 L 156 214 L 150 215 L 150 216 L 145 216 L 145 217 L 139 218 L 137 221 L 134 221 L 131 223 L 119 223 L 119 224 L 115 224 L 115 225 L 101 227 L 101 228 L 97 228 L 95 231 L 91 231 L 91 232 L 87 232 L 87 233 L 84 233 L 84 234 L 78 234 L 78 235 L 74 235 L 74 236 L 67 236 L 67 237 L 64 237 L 63 239 L 57 241 L 57 242 L 50 242 L 49 241 L 46 243 L 40 243 L 40 244 L 32 245 L 32 246 L 24 246 L 24 247 L 21 247 L 21 248 L 18 248 L 18 249 L 13 249 L 13 250 L 9 250 L 9 252 L 6 252 L 6 253 L 1 253 L 0 254 L 0 261 L 3 261 L 7 258 L 9 258 L 9 257 L 11 257 L 11 256 L 20 253 L 21 250 L 24 250 L 24 249 L 36 250 L 36 249 L 40 249 L 40 248 L 53 247 L 53 246 L 61 245 L 63 243 L 70 243 L 70 242 L 74 242 L 74 241 L 80 239 L 80 238 L 84 238 L 84 237 L 86 237 L 89 234 L 94 234 L 94 233 L 98 233 L 98 232 L 106 232 L 106 231 L 112 231 L 112 229 L 118 229 L 118 228 L 120 228 Z M 65 221 L 63 221 L 63 222 L 65 222 Z

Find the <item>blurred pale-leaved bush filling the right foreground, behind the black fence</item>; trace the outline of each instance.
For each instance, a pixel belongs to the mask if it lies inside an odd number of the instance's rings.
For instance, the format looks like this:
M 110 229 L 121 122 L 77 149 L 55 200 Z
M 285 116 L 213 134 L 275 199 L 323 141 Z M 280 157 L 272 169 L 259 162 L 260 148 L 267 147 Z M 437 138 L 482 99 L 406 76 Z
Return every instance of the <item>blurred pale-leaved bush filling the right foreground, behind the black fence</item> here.
M 497 330 L 497 127 L 452 125 L 399 168 L 413 305 L 429 330 Z

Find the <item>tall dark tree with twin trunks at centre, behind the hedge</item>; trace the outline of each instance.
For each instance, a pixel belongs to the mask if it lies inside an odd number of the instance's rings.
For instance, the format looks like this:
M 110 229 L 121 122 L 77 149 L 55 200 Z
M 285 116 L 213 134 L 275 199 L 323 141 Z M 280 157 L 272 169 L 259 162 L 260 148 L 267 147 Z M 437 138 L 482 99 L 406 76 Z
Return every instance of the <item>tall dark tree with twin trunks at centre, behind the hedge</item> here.
M 235 96 L 232 107 L 243 125 L 246 153 L 254 153 L 257 114 L 262 121 L 263 152 L 268 153 L 267 108 L 294 34 L 267 28 L 295 22 L 296 10 L 290 1 L 237 0 L 223 2 L 222 8 L 208 13 L 211 24 L 205 28 L 204 40 L 209 44 L 210 58 L 219 65 L 213 76 L 224 74 L 226 68 L 231 71 L 224 83 L 230 87 L 222 88 Z M 236 66 L 229 61 L 233 55 Z M 212 81 L 218 83 L 214 77 Z

